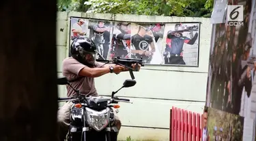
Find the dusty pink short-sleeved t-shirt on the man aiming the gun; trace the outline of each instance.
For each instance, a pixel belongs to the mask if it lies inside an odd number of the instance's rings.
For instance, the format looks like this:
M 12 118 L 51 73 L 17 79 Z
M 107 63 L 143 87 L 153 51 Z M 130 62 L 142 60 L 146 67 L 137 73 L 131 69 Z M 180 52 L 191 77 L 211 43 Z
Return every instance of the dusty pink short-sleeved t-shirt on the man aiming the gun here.
M 96 62 L 96 67 L 99 67 L 100 63 Z M 62 74 L 66 77 L 69 81 L 76 79 L 79 77 L 79 72 L 88 66 L 81 64 L 77 60 L 72 57 L 65 58 L 62 62 Z M 94 78 L 93 77 L 83 77 L 78 81 L 70 82 L 74 89 L 78 89 L 81 94 L 85 96 L 98 96 L 98 92 L 94 85 Z M 76 92 L 67 85 L 68 97 L 74 96 Z

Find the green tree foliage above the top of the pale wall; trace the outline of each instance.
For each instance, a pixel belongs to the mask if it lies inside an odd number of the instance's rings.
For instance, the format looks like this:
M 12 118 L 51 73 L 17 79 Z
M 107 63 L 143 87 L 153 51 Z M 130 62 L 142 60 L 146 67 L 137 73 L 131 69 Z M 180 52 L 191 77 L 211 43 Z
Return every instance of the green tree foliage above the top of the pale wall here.
M 85 4 L 84 4 L 85 3 Z M 60 11 L 210 17 L 213 0 L 59 0 Z

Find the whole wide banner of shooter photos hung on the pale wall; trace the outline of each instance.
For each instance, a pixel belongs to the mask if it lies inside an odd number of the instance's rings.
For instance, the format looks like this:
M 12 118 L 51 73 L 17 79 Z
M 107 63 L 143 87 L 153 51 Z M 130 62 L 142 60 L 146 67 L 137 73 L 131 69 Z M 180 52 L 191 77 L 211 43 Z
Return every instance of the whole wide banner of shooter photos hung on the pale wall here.
M 70 18 L 70 43 L 94 41 L 98 59 L 142 59 L 145 64 L 198 66 L 200 23 L 137 23 Z

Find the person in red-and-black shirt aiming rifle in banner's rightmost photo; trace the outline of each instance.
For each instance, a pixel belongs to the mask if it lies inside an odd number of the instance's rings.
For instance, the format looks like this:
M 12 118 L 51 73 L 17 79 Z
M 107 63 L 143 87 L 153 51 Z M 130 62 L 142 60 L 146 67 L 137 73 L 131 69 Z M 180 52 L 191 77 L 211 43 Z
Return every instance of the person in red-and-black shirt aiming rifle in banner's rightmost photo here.
M 193 26 L 193 28 L 197 28 L 195 31 L 198 31 L 198 26 Z M 166 48 L 163 54 L 165 64 L 186 64 L 182 56 L 183 45 L 184 43 L 193 45 L 197 41 L 198 33 L 193 35 L 193 31 L 189 31 L 182 24 L 175 24 L 174 31 L 167 32 Z M 184 37 L 182 34 L 184 32 L 190 32 L 190 38 Z

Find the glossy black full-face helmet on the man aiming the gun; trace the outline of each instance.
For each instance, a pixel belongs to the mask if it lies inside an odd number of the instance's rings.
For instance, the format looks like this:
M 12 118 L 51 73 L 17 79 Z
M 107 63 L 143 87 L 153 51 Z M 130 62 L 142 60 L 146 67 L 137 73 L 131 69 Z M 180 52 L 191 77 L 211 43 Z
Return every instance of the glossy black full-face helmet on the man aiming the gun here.
M 97 56 L 97 47 L 94 41 L 87 37 L 76 37 L 70 45 L 72 58 L 89 67 L 94 66 Z

